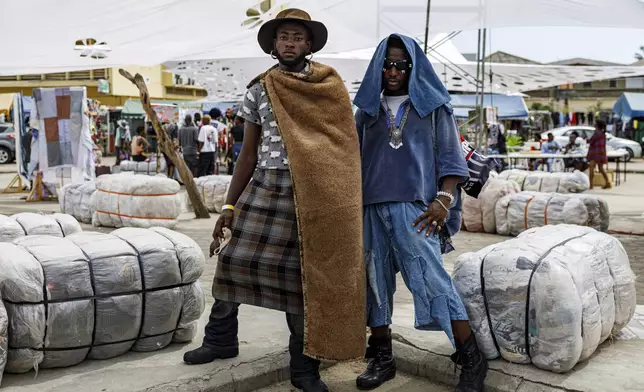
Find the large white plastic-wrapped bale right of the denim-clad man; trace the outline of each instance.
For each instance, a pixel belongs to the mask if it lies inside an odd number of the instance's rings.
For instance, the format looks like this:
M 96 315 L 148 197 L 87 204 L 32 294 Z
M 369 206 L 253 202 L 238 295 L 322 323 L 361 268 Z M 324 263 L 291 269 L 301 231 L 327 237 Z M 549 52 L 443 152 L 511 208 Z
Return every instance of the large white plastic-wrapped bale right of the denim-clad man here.
M 628 255 L 588 227 L 531 229 L 463 254 L 453 278 L 487 358 L 557 373 L 588 359 L 635 313 Z

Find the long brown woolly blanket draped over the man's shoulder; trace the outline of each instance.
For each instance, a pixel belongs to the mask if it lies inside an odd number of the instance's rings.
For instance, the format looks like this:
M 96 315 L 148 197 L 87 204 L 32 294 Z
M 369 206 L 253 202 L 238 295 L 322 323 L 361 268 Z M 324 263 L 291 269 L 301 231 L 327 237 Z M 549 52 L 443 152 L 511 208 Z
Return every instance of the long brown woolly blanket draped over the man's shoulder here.
M 260 76 L 289 160 L 304 291 L 304 352 L 325 360 L 364 357 L 366 276 L 360 147 L 338 73 L 272 68 Z

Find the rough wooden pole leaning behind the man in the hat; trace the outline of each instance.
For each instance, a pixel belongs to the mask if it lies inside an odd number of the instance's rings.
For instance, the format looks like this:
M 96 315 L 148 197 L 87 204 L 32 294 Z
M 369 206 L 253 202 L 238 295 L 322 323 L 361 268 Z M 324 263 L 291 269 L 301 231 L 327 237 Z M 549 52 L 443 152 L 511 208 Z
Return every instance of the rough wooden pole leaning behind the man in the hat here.
M 168 158 L 170 158 L 170 161 L 172 161 L 174 166 L 176 166 L 179 170 L 181 182 L 183 182 L 183 185 L 186 187 L 186 192 L 188 192 L 188 197 L 190 198 L 190 202 L 192 203 L 192 207 L 195 211 L 195 217 L 197 219 L 210 218 L 210 213 L 208 212 L 208 209 L 206 208 L 203 200 L 199 196 L 199 189 L 197 188 L 197 184 L 195 184 L 194 178 L 192 177 L 192 172 L 190 171 L 190 169 L 188 169 L 188 165 L 186 165 L 186 162 L 183 160 L 183 158 L 181 158 L 177 154 L 177 151 L 174 149 L 172 140 L 170 140 L 168 135 L 165 133 L 165 130 L 159 122 L 159 118 L 157 117 L 156 112 L 152 108 L 152 104 L 150 103 L 150 94 L 148 93 L 148 87 L 145 85 L 143 76 L 141 76 L 140 74 L 132 76 L 132 74 L 124 69 L 119 69 L 119 73 L 139 89 L 139 93 L 141 94 L 141 103 L 143 104 L 143 110 L 145 110 L 145 113 L 148 115 L 148 118 L 152 122 L 152 128 L 157 135 L 158 149 L 165 153 Z

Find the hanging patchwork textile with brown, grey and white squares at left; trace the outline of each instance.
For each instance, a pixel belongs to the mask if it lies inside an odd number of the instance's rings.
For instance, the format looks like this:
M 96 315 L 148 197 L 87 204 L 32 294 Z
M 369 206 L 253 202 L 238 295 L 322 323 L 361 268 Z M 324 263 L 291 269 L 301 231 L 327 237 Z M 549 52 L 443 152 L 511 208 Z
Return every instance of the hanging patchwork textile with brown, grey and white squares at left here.
M 36 88 L 32 116 L 39 126 L 39 170 L 73 167 L 94 178 L 85 87 Z

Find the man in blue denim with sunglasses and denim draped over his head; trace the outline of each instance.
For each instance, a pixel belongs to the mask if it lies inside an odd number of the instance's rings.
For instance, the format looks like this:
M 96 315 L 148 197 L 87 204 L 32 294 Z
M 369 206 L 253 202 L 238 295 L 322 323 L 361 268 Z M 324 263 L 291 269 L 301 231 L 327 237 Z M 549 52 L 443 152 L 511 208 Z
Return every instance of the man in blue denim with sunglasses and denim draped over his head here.
M 396 374 L 389 325 L 400 271 L 414 299 L 415 327 L 445 331 L 457 349 L 456 390 L 484 390 L 487 361 L 441 259 L 441 240 L 460 228 L 458 185 L 469 174 L 449 101 L 418 44 L 397 34 L 376 49 L 354 100 L 371 328 L 360 389 Z

